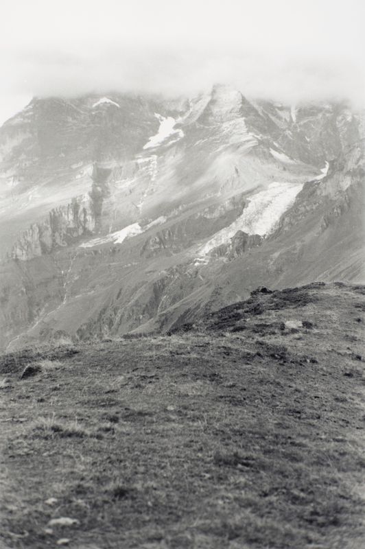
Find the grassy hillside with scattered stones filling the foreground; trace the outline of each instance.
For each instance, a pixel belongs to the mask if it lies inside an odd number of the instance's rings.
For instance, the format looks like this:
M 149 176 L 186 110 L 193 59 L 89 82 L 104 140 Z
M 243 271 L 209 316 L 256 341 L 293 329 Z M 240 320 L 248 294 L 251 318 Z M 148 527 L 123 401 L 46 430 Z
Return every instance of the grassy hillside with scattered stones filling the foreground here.
M 3 355 L 1 548 L 364 547 L 364 310 L 318 283 Z

